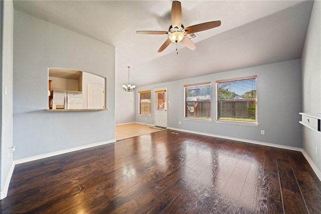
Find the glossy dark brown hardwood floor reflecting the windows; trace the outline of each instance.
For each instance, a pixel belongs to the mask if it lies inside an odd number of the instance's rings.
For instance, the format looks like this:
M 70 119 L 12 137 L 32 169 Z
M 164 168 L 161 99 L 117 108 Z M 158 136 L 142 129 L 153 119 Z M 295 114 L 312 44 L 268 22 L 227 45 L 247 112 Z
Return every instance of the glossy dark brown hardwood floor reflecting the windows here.
M 321 213 L 301 152 L 165 130 L 18 164 L 1 213 Z

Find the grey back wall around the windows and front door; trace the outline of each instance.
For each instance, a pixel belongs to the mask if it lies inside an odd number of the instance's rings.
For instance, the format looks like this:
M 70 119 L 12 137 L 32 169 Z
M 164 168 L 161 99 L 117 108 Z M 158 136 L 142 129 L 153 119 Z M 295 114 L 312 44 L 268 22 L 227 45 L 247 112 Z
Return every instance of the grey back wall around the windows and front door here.
M 215 122 L 215 81 L 257 75 L 259 126 L 223 124 Z M 212 82 L 212 122 L 184 120 L 184 85 Z M 299 112 L 301 110 L 300 59 L 216 73 L 174 82 L 138 87 L 136 91 L 168 87 L 168 126 L 265 143 L 301 148 L 302 135 Z M 138 93 L 135 92 L 138 107 Z M 154 95 L 151 96 L 151 117 L 138 115 L 136 122 L 154 124 Z M 181 121 L 181 124 L 179 124 Z M 265 135 L 260 134 L 265 130 Z

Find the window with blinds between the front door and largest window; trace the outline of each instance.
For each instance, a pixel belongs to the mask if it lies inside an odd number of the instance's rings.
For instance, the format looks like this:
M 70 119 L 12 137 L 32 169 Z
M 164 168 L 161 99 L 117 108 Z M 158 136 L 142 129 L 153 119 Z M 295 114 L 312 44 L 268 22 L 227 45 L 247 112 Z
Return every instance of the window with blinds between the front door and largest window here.
M 211 82 L 184 86 L 185 118 L 211 120 Z

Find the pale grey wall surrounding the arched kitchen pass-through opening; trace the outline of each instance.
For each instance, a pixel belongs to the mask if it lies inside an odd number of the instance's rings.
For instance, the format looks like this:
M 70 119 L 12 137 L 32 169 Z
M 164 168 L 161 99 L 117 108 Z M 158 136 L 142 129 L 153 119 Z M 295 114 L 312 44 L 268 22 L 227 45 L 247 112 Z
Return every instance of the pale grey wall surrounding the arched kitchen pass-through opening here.
M 45 111 L 48 68 L 72 68 L 106 78 L 108 110 Z M 114 140 L 114 79 L 114 47 L 15 11 L 14 159 Z

